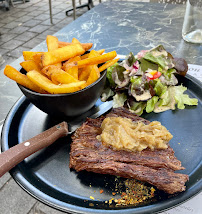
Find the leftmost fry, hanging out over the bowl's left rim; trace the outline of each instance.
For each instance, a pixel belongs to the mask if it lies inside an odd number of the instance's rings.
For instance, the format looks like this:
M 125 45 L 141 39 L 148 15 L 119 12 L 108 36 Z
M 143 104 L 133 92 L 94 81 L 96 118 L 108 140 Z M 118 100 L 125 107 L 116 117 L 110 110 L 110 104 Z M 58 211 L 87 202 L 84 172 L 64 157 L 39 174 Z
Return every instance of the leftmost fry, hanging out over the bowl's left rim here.
M 36 91 L 36 92 L 39 92 L 42 94 L 46 93 L 43 89 L 41 89 L 36 84 L 34 84 L 30 79 L 28 79 L 26 75 L 20 73 L 18 70 L 16 70 L 15 68 L 13 68 L 10 65 L 6 65 L 6 67 L 4 69 L 4 74 L 8 78 L 16 81 L 17 83 L 25 86 L 26 88 L 29 88 L 33 91 Z

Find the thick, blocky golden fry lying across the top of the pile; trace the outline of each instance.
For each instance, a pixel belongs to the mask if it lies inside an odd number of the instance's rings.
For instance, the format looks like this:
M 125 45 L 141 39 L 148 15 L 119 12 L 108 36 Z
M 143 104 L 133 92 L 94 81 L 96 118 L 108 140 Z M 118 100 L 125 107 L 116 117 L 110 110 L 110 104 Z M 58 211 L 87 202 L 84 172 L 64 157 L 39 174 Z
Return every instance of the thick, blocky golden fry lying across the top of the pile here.
M 63 48 L 58 48 L 56 50 L 50 52 L 44 52 L 41 56 L 42 65 L 47 66 L 51 64 L 56 64 L 58 62 L 62 62 L 70 59 L 71 57 L 75 57 L 81 55 L 85 52 L 80 44 L 71 44 Z

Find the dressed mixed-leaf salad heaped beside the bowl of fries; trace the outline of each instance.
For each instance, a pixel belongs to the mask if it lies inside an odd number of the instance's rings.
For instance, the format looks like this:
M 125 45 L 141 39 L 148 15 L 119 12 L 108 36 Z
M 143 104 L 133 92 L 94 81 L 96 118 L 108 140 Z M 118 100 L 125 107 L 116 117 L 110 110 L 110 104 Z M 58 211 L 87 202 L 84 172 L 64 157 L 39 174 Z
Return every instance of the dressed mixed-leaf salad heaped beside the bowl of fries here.
M 187 88 L 178 85 L 177 75 L 185 76 L 187 70 L 186 61 L 173 58 L 162 45 L 137 55 L 130 53 L 108 68 L 102 101 L 113 97 L 114 108 L 127 105 L 138 115 L 144 110 L 158 113 L 197 105 L 197 99 L 184 94 Z

